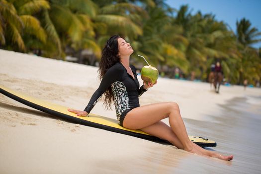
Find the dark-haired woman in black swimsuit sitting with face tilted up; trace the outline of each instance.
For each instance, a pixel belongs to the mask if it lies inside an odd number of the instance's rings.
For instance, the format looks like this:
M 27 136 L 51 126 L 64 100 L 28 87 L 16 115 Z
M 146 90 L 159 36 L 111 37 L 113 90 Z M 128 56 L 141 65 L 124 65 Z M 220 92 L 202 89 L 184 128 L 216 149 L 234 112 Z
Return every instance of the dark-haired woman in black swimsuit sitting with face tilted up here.
M 68 109 L 78 116 L 87 116 L 95 103 L 105 94 L 104 104 L 115 104 L 118 123 L 128 129 L 140 129 L 148 134 L 168 140 L 179 149 L 198 155 L 210 156 L 230 161 L 233 156 L 222 156 L 207 151 L 192 143 L 187 135 L 185 125 L 175 102 L 139 105 L 138 96 L 155 84 L 143 83 L 139 88 L 136 69 L 129 64 L 133 49 L 129 43 L 118 35 L 112 36 L 102 50 L 99 67 L 100 86 L 93 93 L 84 111 Z M 169 117 L 170 126 L 161 120 Z

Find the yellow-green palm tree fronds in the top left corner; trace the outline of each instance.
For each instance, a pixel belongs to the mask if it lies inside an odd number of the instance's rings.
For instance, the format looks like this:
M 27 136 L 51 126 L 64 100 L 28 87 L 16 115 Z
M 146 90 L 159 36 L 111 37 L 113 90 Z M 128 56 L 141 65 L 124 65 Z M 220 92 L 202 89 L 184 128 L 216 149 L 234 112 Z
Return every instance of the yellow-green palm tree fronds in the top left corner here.
M 49 7 L 46 0 L 17 0 L 12 2 L 0 0 L 1 44 L 25 52 L 28 49 L 29 42 L 32 42 L 32 38 L 45 43 L 46 33 L 40 21 L 32 14 Z M 35 47 L 37 46 L 35 45 Z

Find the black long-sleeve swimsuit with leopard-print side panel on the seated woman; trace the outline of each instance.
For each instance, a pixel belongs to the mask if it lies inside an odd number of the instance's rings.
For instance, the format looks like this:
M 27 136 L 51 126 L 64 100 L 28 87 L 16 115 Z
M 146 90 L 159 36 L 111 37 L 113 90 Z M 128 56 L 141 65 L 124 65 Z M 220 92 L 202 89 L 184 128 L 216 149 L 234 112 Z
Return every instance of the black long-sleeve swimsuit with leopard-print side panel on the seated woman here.
M 135 79 L 127 73 L 127 70 L 120 62 L 109 68 L 104 74 L 98 89 L 91 96 L 85 111 L 89 113 L 106 89 L 111 87 L 117 120 L 122 126 L 126 114 L 131 109 L 140 106 L 138 97 L 146 91 L 144 85 L 139 88 L 136 68 L 133 65 L 130 65 L 130 68 Z

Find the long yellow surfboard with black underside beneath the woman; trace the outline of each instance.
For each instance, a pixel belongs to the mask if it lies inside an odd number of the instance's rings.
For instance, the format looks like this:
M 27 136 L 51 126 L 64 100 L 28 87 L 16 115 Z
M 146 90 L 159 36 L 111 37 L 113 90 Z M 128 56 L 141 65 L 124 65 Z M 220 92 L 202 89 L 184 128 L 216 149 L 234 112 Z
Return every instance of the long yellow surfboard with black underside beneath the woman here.
M 43 100 L 37 99 L 35 97 L 17 92 L 15 90 L 12 90 L 12 89 L 9 89 L 9 88 L 3 87 L 3 86 L 0 86 L 0 92 L 25 105 L 28 105 L 37 110 L 41 110 L 43 112 L 49 113 L 51 115 L 58 116 L 63 119 L 70 120 L 74 123 L 83 124 L 86 126 L 100 128 L 100 129 L 117 132 L 117 133 L 121 133 L 121 134 L 131 135 L 134 137 L 143 138 L 143 139 L 151 140 L 151 141 L 155 141 L 155 142 L 164 142 L 164 143 L 170 144 L 169 142 L 167 142 L 165 140 L 162 140 L 162 139 L 159 139 L 152 135 L 149 135 L 141 130 L 126 129 L 126 128 L 120 126 L 115 119 L 111 119 L 108 117 L 91 114 L 91 113 L 89 114 L 89 117 L 80 117 L 72 112 L 69 112 L 67 110 L 68 107 L 54 104 L 54 103 L 51 103 L 48 101 L 43 101 Z M 216 145 L 217 145 L 215 141 L 208 140 L 203 137 L 189 136 L 189 139 L 201 147 L 216 147 Z

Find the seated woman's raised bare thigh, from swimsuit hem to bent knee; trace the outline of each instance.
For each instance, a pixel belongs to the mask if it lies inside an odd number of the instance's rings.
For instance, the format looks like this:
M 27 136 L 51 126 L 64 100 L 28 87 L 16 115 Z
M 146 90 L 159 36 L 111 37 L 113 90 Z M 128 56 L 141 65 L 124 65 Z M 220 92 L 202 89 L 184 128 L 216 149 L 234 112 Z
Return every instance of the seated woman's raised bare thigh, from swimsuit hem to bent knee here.
M 174 102 L 149 104 L 132 109 L 123 120 L 123 126 L 129 129 L 142 129 L 169 117 L 172 109 L 178 109 Z

